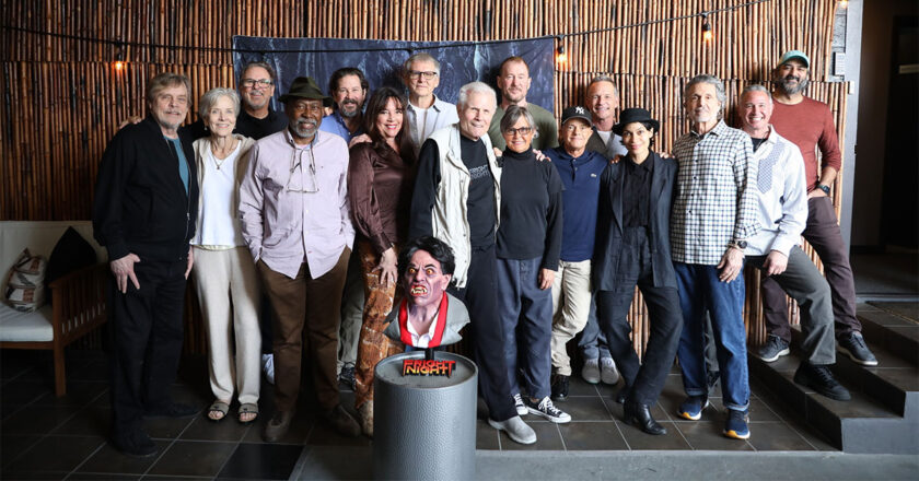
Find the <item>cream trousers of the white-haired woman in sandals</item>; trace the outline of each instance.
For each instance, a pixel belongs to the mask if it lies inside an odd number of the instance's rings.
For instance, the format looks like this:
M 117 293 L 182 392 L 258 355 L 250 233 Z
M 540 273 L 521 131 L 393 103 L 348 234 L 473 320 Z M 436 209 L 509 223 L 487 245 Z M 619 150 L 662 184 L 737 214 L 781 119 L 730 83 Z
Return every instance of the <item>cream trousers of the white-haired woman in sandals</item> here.
M 252 255 L 245 247 L 195 248 L 191 272 L 205 319 L 211 391 L 217 399 L 232 401 L 239 390 L 240 403 L 257 403 L 261 294 Z

